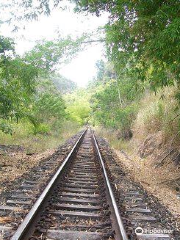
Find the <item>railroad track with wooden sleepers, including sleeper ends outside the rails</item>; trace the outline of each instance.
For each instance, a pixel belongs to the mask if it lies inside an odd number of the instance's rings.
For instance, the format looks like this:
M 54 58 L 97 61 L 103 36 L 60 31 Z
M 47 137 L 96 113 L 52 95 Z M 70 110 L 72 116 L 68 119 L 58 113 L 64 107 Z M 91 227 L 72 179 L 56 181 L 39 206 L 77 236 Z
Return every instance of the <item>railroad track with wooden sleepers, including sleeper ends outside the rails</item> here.
M 20 200 L 15 206 L 21 207 L 14 215 L 14 222 L 10 225 L 1 225 L 0 222 L 0 230 L 6 231 L 3 240 L 176 240 L 169 234 L 135 234 L 133 226 L 144 228 L 145 225 L 141 225 L 143 222 L 151 228 L 157 226 L 157 221 L 149 215 L 151 211 L 144 205 L 141 194 L 134 186 L 125 190 L 125 212 L 130 216 L 124 216 L 124 210 L 121 209 L 122 221 L 111 187 L 114 189 L 114 185 L 112 179 L 110 183 L 108 178 L 111 174 L 107 174 L 103 159 L 91 130 L 81 132 L 33 206 L 28 205 L 28 194 L 38 189 L 38 182 L 28 180 L 23 184 L 22 190 L 25 187 L 25 192 L 21 194 L 21 190 L 18 190 Z M 51 167 L 51 164 L 54 162 L 46 163 L 46 167 Z M 117 198 L 118 201 L 120 198 Z M 12 209 L 14 214 L 14 203 L 8 200 L 8 205 L 0 206 L 0 210 Z M 20 214 L 21 211 L 28 212 L 26 217 Z M 19 218 L 22 218 L 21 224 Z

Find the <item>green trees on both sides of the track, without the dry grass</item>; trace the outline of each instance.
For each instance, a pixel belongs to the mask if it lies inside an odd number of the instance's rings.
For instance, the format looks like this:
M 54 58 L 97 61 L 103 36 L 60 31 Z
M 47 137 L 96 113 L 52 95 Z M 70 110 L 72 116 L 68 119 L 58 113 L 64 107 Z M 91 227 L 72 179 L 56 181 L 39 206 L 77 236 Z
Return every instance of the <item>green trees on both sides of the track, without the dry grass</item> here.
M 126 130 L 130 128 L 144 89 L 157 91 L 174 83 L 179 86 L 179 0 L 73 2 L 75 11 L 86 11 L 97 16 L 104 11 L 110 14 L 109 22 L 104 27 L 108 62 L 100 60 L 96 64 L 97 76 L 89 84 L 89 91 L 93 93 L 90 103 L 96 121 Z M 16 19 L 31 20 L 37 19 L 40 14 L 50 14 L 51 9 L 59 4 L 58 0 L 51 1 L 51 4 L 49 0 L 12 0 L 10 6 L 12 12 L 18 7 L 22 10 Z M 64 116 L 64 103 L 62 99 L 58 100 L 58 93 L 53 90 L 52 95 L 52 86 L 51 90 L 47 90 L 37 83 L 39 77 L 52 76 L 58 64 L 71 60 L 82 49 L 84 39 L 85 35 L 76 40 L 68 36 L 66 39 L 39 42 L 32 51 L 20 58 L 15 53 L 13 41 L 0 38 L 1 118 L 15 118 L 18 121 L 26 115 L 27 110 L 32 109 L 35 118 L 43 121 L 42 115 L 47 114 L 47 119 L 50 119 L 43 102 L 52 111 L 51 116 L 59 118 L 55 114 L 57 109 Z M 53 75 L 51 79 L 63 93 L 76 88 L 61 76 Z M 17 92 L 17 96 L 14 96 L 14 92 Z M 80 95 L 78 97 L 79 100 L 77 95 L 73 100 L 69 97 L 71 104 L 67 112 L 72 119 L 83 124 L 90 113 L 89 96 L 84 96 L 88 99 L 84 102 Z M 176 97 L 180 99 L 180 94 L 177 93 Z M 29 108 L 35 103 L 39 110 Z

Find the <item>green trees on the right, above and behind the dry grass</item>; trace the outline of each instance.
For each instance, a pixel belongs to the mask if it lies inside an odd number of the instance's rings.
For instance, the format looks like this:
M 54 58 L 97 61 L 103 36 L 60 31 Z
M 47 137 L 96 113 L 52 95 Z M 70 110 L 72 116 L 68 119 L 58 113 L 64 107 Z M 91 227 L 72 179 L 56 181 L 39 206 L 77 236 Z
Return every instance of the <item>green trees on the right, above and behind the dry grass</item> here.
M 145 89 L 157 92 L 173 84 L 179 88 L 179 0 L 74 2 L 79 12 L 109 13 L 106 53 L 115 74 L 107 77 L 105 66 L 97 64 L 93 115 L 104 126 L 130 128 Z

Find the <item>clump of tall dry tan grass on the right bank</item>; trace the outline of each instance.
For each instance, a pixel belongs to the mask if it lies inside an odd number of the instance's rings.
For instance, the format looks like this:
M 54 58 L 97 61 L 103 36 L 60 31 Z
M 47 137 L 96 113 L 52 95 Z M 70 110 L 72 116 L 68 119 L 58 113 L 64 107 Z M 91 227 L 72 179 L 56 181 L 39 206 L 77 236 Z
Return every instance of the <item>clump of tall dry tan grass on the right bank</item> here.
M 139 112 L 133 124 L 135 138 L 144 139 L 148 134 L 161 131 L 166 141 L 177 134 L 179 118 L 175 118 L 178 102 L 176 87 L 164 87 L 155 93 L 148 93 L 140 102 Z

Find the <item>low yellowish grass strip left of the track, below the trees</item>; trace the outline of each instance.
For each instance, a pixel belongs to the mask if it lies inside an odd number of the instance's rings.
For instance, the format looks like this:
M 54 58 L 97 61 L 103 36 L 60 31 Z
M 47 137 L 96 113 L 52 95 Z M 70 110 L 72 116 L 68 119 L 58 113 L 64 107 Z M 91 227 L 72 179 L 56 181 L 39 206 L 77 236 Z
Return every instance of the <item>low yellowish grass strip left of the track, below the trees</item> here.
M 0 131 L 0 144 L 20 145 L 28 153 L 56 148 L 79 131 L 79 125 L 70 121 L 61 123 L 48 133 L 36 135 L 34 135 L 33 127 L 29 122 L 14 123 L 12 127 L 12 135 Z

